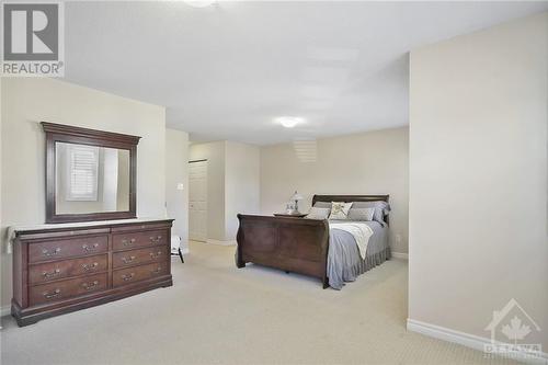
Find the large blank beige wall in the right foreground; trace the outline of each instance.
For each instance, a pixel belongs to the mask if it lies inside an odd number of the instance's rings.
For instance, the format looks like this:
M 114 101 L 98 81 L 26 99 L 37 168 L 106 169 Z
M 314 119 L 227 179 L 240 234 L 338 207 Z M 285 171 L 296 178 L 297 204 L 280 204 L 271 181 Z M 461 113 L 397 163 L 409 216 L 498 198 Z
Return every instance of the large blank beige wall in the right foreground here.
M 411 53 L 409 318 L 489 338 L 515 298 L 548 349 L 548 13 Z

